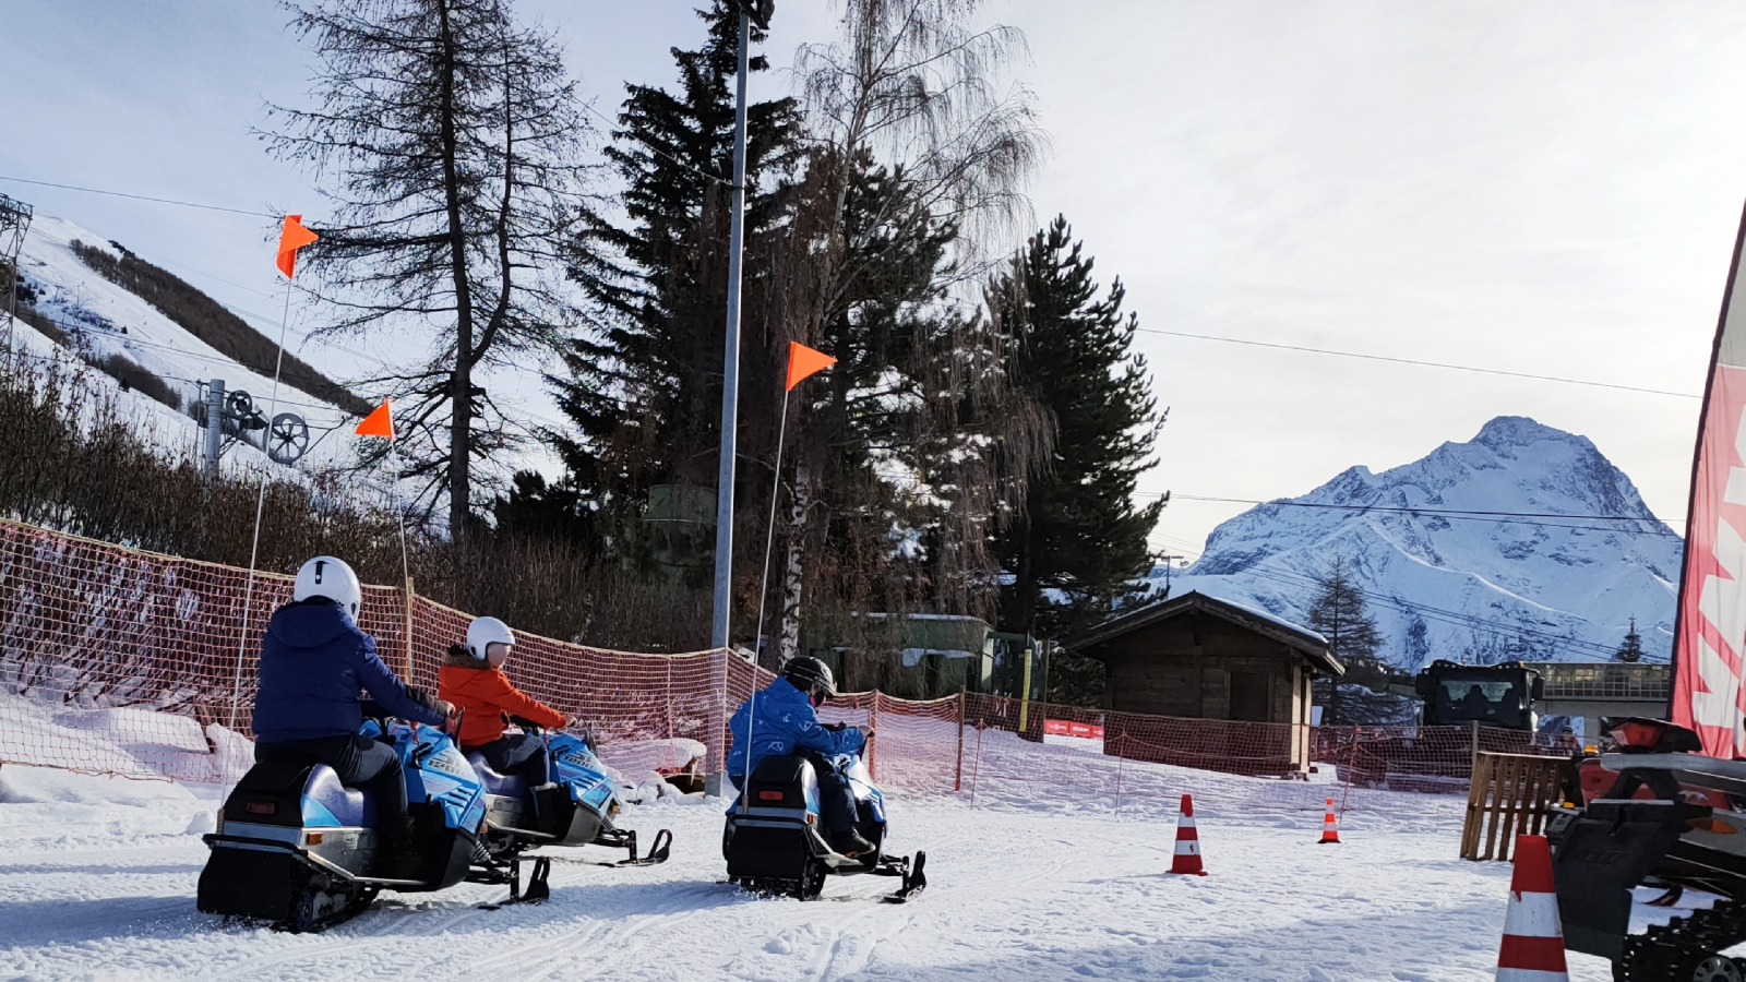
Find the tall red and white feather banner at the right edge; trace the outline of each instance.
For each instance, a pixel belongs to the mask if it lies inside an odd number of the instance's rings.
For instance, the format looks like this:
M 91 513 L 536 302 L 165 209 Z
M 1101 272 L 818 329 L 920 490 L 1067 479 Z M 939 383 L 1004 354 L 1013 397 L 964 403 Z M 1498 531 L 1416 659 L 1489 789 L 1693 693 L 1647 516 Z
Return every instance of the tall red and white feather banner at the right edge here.
M 1746 757 L 1741 701 L 1746 657 L 1746 295 L 1741 239 L 1722 297 L 1692 461 L 1680 612 L 1673 634 L 1673 722 L 1697 730 L 1704 753 Z

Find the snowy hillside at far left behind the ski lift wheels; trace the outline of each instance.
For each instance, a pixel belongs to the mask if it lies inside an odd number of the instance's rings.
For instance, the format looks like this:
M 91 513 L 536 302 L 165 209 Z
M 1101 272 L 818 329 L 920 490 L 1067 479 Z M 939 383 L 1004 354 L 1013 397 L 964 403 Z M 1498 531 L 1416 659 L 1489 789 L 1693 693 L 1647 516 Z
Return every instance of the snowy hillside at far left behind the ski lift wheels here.
M 183 405 L 199 400 L 199 383 L 223 379 L 229 391 L 244 390 L 255 397 L 265 412 L 272 391 L 271 374 L 262 376 L 244 369 L 211 344 L 201 341 L 178 323 L 159 313 L 147 301 L 110 283 L 73 253 L 72 243 L 80 241 L 119 257 L 107 236 L 75 225 L 65 218 L 38 215 L 24 238 L 19 257 L 19 274 L 35 290 L 35 311 L 54 322 L 66 334 L 63 342 L 31 328 L 23 320 L 16 327 L 19 344 L 28 355 L 40 358 L 82 356 L 101 362 L 120 356 L 161 377 L 180 397 Z M 147 257 L 148 260 L 148 257 Z M 115 390 L 122 412 L 134 419 L 141 435 L 180 451 L 197 453 L 199 425 L 182 411 L 138 391 L 119 391 L 120 386 L 103 372 L 91 372 L 94 384 Z M 279 388 L 279 411 L 297 412 L 311 430 L 311 440 L 347 418 L 339 407 L 290 386 Z M 304 465 L 332 461 L 344 451 L 342 440 L 325 440 L 313 447 Z M 225 465 L 271 465 L 265 454 L 253 447 L 232 444 L 225 451 Z

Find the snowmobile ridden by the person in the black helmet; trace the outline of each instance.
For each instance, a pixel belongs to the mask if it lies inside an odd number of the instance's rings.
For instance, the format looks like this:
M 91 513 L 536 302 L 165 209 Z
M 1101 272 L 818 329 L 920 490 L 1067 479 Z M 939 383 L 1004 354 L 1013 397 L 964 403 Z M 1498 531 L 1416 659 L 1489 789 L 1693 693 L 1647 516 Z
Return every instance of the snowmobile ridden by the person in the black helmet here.
M 761 895 L 817 900 L 824 877 L 873 874 L 903 877 L 903 888 L 885 896 L 903 903 L 927 888 L 927 853 L 885 854 L 885 799 L 868 776 L 861 755 L 845 753 L 829 762 L 854 790 L 857 830 L 876 849 L 871 858 L 852 860 L 824 840 L 819 813 L 819 776 L 807 757 L 766 757 L 758 762 L 746 788 L 728 811 L 721 854 L 728 881 Z

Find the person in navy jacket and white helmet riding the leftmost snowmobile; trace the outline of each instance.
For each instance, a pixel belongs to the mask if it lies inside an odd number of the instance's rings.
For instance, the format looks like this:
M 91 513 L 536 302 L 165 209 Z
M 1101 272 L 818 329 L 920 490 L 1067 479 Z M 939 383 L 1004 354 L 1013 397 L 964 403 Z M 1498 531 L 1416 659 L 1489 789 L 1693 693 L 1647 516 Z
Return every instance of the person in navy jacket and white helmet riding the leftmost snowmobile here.
M 407 819 L 407 785 L 400 753 L 360 736 L 368 692 L 403 720 L 440 727 L 454 706 L 400 681 L 375 654 L 375 640 L 358 629 L 363 589 L 351 566 L 316 556 L 297 571 L 292 603 L 272 612 L 260 645 L 255 692 L 255 760 L 297 751 L 320 758 L 340 783 L 375 795 L 377 875 L 424 879 Z

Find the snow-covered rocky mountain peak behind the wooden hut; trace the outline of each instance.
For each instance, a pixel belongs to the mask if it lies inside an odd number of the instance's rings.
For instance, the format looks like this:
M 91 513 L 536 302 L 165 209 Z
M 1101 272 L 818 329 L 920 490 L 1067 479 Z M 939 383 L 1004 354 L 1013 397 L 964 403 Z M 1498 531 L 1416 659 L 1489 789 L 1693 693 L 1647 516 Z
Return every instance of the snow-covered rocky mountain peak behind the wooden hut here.
M 1667 660 L 1681 549 L 1587 437 L 1500 416 L 1416 463 L 1353 467 L 1243 512 L 1170 592 L 1303 622 L 1313 578 L 1344 557 L 1400 667 L 1605 660 L 1633 617 L 1646 657 Z M 1163 591 L 1163 570 L 1152 585 Z

